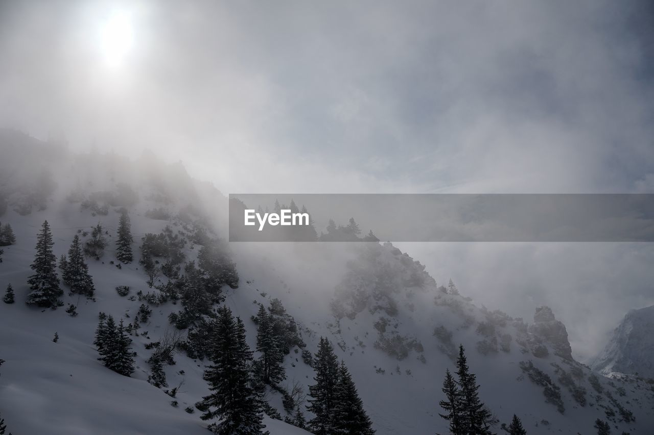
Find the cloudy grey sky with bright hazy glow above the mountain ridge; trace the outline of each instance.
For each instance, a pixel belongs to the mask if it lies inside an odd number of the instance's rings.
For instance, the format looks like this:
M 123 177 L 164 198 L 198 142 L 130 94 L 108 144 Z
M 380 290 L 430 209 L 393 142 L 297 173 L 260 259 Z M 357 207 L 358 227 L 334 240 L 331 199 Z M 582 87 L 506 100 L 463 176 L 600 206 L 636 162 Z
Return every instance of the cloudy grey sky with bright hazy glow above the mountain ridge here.
M 5 0 L 0 127 L 150 149 L 223 193 L 652 193 L 653 19 L 648 1 Z M 580 357 L 654 303 L 648 245 L 411 249 L 483 302 L 558 304 Z

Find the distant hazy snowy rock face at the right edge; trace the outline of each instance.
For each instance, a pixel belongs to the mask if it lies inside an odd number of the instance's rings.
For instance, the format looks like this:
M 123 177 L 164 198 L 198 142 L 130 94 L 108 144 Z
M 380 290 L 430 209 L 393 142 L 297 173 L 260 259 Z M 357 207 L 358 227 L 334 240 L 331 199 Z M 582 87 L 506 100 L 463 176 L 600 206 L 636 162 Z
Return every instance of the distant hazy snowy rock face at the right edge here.
M 654 305 L 630 310 L 604 350 L 591 362 L 602 374 L 620 372 L 654 378 Z

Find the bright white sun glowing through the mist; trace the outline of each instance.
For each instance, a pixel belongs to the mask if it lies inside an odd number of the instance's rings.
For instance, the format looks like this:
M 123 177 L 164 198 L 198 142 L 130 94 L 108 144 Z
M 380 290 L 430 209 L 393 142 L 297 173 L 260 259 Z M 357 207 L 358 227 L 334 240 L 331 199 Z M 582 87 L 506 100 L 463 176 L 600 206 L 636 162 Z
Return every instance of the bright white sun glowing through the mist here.
M 112 12 L 101 27 L 102 55 L 108 65 L 124 63 L 133 46 L 134 31 L 131 17 L 125 11 Z

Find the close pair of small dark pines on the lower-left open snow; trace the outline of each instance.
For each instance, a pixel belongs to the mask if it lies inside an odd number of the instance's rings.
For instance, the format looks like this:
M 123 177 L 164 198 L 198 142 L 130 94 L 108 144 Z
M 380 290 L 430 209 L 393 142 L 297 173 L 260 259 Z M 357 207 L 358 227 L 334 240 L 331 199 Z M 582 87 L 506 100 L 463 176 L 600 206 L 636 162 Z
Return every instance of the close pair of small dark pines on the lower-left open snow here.
M 98 358 L 116 373 L 129 376 L 134 371 L 134 357 L 131 352 L 131 338 L 127 334 L 123 321 L 118 326 L 111 315 L 100 313 L 95 341 L 93 342 L 100 354 Z

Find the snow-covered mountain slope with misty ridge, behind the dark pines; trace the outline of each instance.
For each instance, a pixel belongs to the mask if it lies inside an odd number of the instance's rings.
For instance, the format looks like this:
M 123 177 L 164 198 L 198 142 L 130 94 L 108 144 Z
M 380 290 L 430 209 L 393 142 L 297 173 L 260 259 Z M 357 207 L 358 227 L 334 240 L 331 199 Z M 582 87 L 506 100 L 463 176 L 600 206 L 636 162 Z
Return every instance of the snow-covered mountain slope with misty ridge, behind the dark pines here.
M 0 135 L 0 153 L 0 221 L 16 235 L 15 244 L 2 248 L 0 264 L 0 289 L 11 283 L 15 293 L 15 303 L 0 302 L 0 358 L 6 361 L 0 367 L 0 413 L 7 429 L 14 435 L 207 433 L 209 422 L 199 418 L 195 404 L 209 393 L 202 376 L 209 361 L 194 353 L 197 340 L 175 322 L 183 304 L 157 289 L 165 276 L 152 278 L 143 270 L 139 246 L 148 233 L 174 234 L 186 240 L 184 260 L 197 263 L 205 236 L 226 234 L 226 198 L 153 155 L 137 161 L 112 153 L 76 155 L 7 131 Z M 131 218 L 135 261 L 119 265 L 115 240 L 123 209 Z M 87 259 L 93 299 L 71 295 L 62 285 L 59 309 L 24 303 L 36 234 L 46 219 L 57 257 L 76 234 L 88 241 L 98 223 L 106 231 L 103 255 Z M 476 306 L 464 289 L 437 284 L 419 261 L 390 243 L 232 244 L 230 257 L 238 285 L 222 288 L 220 304 L 243 319 L 250 348 L 256 346 L 252 316 L 260 304 L 281 301 L 284 318 L 296 326 L 281 387 L 309 393 L 315 376 L 310 356 L 327 337 L 349 368 L 377 434 L 447 433 L 438 402 L 459 344 L 481 399 L 498 419 L 494 432 L 502 432 L 513 414 L 530 434 L 593 434 L 596 419 L 617 433 L 649 434 L 654 427 L 652 385 L 604 378 L 574 361 L 566 328 L 549 308 L 534 307 L 527 322 L 499 307 Z M 121 286 L 129 287 L 126 295 L 117 291 Z M 76 307 L 74 317 L 65 311 L 69 304 Z M 128 323 L 142 304 L 151 314 L 131 336 L 136 370 L 121 376 L 97 361 L 98 313 Z M 182 339 L 179 353 L 174 364 L 163 366 L 168 387 L 157 388 L 148 383 L 152 343 L 175 332 Z M 292 417 L 283 393 L 268 388 L 265 398 L 271 435 L 307 433 L 271 418 Z

